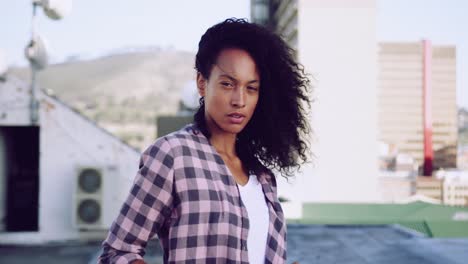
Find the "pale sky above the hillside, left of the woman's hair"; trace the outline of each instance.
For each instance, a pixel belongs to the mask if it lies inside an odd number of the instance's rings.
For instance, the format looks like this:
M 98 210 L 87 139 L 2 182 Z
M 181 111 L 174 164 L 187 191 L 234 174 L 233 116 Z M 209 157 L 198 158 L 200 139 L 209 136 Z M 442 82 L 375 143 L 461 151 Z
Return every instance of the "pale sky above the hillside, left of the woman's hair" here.
M 228 17 L 250 17 L 248 0 L 75 0 L 72 6 L 57 21 L 38 12 L 37 31 L 53 61 L 126 47 L 195 52 L 208 27 Z M 0 49 L 7 50 L 10 63 L 27 63 L 23 49 L 31 37 L 31 14 L 31 0 L 0 0 Z

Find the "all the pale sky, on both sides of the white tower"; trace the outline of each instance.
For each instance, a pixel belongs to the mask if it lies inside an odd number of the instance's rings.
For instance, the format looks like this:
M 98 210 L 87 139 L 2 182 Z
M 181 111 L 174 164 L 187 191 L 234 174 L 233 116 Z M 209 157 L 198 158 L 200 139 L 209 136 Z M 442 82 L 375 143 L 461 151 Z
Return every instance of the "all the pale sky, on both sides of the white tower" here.
M 353 1 L 353 0 L 349 0 Z M 455 45 L 457 104 L 468 108 L 468 1 L 377 0 L 378 41 Z M 31 0 L 0 0 L 0 52 L 10 65 L 27 65 Z M 52 62 L 95 57 L 123 48 L 159 46 L 196 52 L 203 32 L 228 17 L 249 18 L 250 0 L 75 0 L 54 21 L 38 12 L 37 30 Z M 465 25 L 465 26 L 464 26 Z

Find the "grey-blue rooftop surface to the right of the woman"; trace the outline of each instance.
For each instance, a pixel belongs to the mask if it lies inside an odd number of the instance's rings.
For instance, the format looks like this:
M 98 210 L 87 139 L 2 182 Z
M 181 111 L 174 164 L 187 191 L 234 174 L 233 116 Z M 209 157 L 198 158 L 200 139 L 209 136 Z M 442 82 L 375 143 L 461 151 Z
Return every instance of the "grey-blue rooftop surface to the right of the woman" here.
M 288 260 L 299 263 L 458 264 L 468 239 L 428 238 L 399 226 L 292 225 Z

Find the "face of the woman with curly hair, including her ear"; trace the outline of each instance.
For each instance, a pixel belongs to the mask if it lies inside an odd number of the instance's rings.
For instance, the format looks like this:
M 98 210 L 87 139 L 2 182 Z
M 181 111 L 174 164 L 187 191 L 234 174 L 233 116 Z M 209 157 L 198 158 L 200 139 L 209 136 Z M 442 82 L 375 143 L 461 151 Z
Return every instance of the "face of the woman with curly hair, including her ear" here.
M 211 134 L 238 134 L 257 106 L 260 76 L 249 53 L 229 48 L 219 53 L 209 79 L 198 74 L 197 86 L 205 97 L 205 120 Z

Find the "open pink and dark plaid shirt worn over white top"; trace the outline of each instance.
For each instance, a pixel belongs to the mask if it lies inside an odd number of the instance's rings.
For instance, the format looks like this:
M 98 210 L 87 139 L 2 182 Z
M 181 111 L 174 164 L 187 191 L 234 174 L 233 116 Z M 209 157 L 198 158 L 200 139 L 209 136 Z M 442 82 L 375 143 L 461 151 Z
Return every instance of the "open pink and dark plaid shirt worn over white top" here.
M 259 173 L 270 214 L 265 263 L 286 260 L 286 223 L 272 173 Z M 248 263 L 249 220 L 234 177 L 195 126 L 159 138 L 103 242 L 99 263 L 142 259 L 158 235 L 164 263 Z

